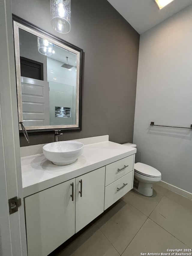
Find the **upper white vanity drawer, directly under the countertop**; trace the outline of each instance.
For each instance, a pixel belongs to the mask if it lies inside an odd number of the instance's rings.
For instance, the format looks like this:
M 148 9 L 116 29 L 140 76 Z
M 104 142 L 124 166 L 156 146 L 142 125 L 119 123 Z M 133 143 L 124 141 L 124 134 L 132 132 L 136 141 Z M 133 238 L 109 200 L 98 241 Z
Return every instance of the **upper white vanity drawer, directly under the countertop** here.
M 111 184 L 133 170 L 134 155 L 106 165 L 105 186 Z M 126 167 L 127 166 L 127 167 Z

